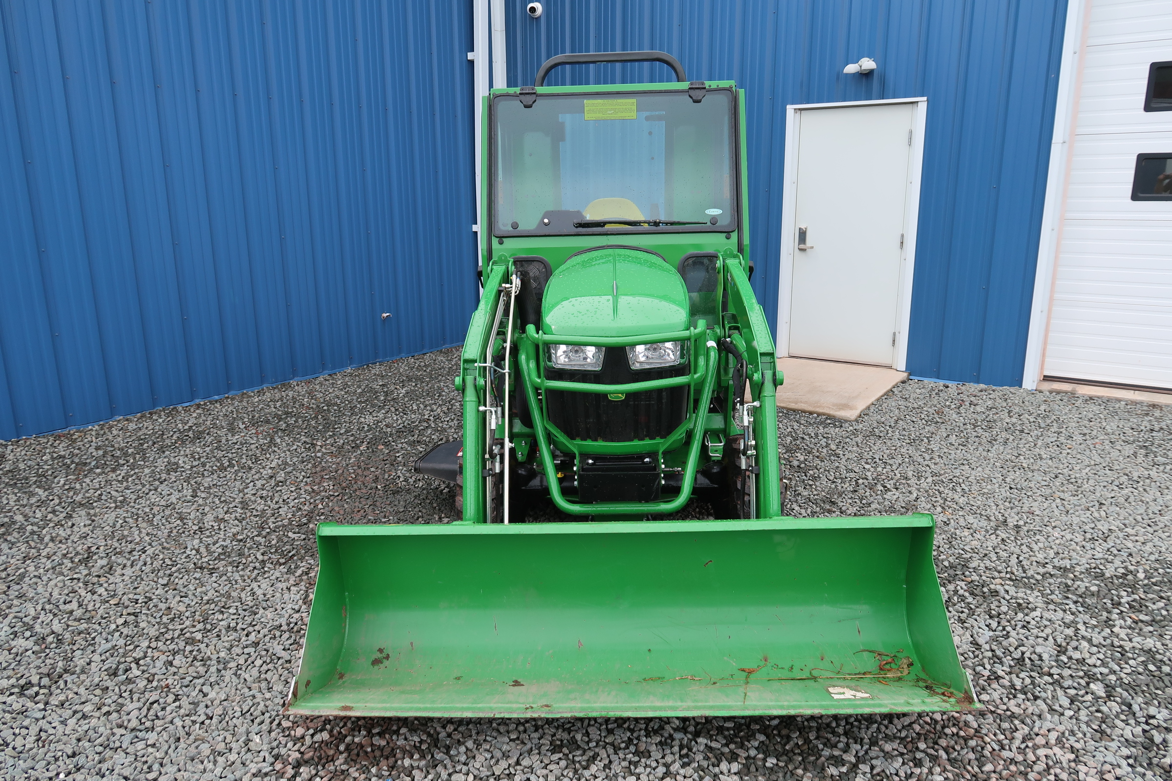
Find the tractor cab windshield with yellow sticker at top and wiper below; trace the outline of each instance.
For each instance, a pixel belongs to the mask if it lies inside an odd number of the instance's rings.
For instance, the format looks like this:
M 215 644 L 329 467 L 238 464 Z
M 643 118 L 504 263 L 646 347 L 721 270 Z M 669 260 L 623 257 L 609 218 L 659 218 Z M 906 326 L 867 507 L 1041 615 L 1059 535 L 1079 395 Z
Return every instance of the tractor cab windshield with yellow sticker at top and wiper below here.
M 731 90 L 495 102 L 496 234 L 731 231 Z

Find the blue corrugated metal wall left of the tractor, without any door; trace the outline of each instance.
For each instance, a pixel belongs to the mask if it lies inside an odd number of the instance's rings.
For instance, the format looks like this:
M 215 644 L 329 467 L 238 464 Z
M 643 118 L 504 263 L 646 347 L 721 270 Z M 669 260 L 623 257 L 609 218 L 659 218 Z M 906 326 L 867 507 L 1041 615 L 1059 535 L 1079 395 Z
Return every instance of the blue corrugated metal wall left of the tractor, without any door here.
M 0 439 L 461 342 L 470 20 L 0 0 Z

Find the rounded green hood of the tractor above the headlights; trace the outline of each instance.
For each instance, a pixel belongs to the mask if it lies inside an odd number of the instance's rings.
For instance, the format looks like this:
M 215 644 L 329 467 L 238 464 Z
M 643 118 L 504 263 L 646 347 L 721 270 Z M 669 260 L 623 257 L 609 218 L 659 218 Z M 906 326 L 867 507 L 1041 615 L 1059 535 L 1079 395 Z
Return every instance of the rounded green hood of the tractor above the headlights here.
M 688 290 L 653 253 L 604 247 L 574 255 L 550 278 L 541 330 L 566 336 L 640 336 L 688 328 Z

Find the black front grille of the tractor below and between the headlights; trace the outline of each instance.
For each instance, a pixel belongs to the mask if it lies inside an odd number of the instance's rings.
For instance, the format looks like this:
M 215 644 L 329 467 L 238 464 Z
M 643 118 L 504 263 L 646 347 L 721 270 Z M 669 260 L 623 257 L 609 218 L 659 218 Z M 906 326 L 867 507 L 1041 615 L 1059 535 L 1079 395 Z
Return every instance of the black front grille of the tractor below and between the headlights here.
M 545 368 L 546 379 L 618 385 L 645 379 L 680 377 L 690 371 L 687 364 L 670 369 L 632 371 L 624 348 L 606 351 L 601 371 L 560 371 Z M 639 441 L 663 439 L 688 417 L 691 389 L 688 385 L 666 388 L 626 398 L 612 399 L 606 393 L 547 391 L 545 409 L 550 422 L 571 439 L 593 441 Z

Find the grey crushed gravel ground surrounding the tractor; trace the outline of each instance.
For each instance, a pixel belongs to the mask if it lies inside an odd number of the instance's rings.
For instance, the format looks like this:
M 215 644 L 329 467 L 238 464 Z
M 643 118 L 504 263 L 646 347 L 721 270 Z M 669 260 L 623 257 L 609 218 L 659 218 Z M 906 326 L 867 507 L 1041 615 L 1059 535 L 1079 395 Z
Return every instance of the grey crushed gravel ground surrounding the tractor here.
M 1172 777 L 1172 407 L 976 385 L 779 426 L 793 514 L 938 514 L 984 711 L 284 717 L 314 523 L 454 514 L 410 468 L 458 431 L 456 361 L 0 443 L 6 777 Z

